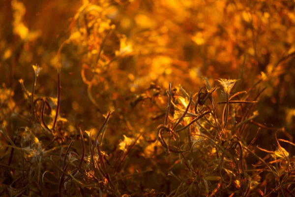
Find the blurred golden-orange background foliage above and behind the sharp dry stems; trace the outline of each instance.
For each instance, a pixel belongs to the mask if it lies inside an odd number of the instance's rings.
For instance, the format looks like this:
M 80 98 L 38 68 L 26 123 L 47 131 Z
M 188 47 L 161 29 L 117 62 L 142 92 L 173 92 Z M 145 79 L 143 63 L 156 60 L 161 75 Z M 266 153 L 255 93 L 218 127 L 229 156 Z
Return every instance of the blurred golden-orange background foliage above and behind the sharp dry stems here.
M 167 90 L 171 81 L 195 94 L 202 77 L 211 87 L 240 79 L 234 92 L 259 82 L 249 100 L 266 88 L 255 119 L 266 127 L 261 147 L 274 149 L 275 128 L 295 135 L 294 0 L 0 0 L 0 24 L 1 124 L 11 132 L 26 123 L 10 123 L 8 114 L 29 109 L 19 80 L 30 91 L 38 65 L 40 97 L 57 97 L 60 69 L 59 115 L 69 127 L 97 131 L 115 109 L 111 144 L 122 134 L 153 136 L 167 106 L 154 87 Z

